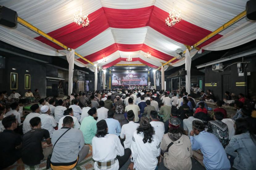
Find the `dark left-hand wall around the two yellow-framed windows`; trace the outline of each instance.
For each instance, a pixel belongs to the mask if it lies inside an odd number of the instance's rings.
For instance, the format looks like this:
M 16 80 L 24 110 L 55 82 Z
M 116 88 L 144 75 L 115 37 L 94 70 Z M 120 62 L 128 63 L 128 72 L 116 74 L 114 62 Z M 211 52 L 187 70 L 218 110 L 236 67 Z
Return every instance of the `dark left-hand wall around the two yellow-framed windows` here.
M 13 70 L 15 68 L 16 70 Z M 29 72 L 26 72 L 28 70 Z M 11 93 L 10 89 L 10 73 L 18 73 L 18 89 L 16 92 L 24 96 L 27 89 L 25 89 L 25 74 L 30 74 L 32 92 L 35 89 L 39 89 L 41 97 L 46 96 L 46 65 L 42 62 L 27 59 L 24 57 L 8 56 L 6 57 L 6 68 L 1 69 L 0 75 L 1 82 L 0 87 L 2 90 L 6 90 L 8 95 Z

